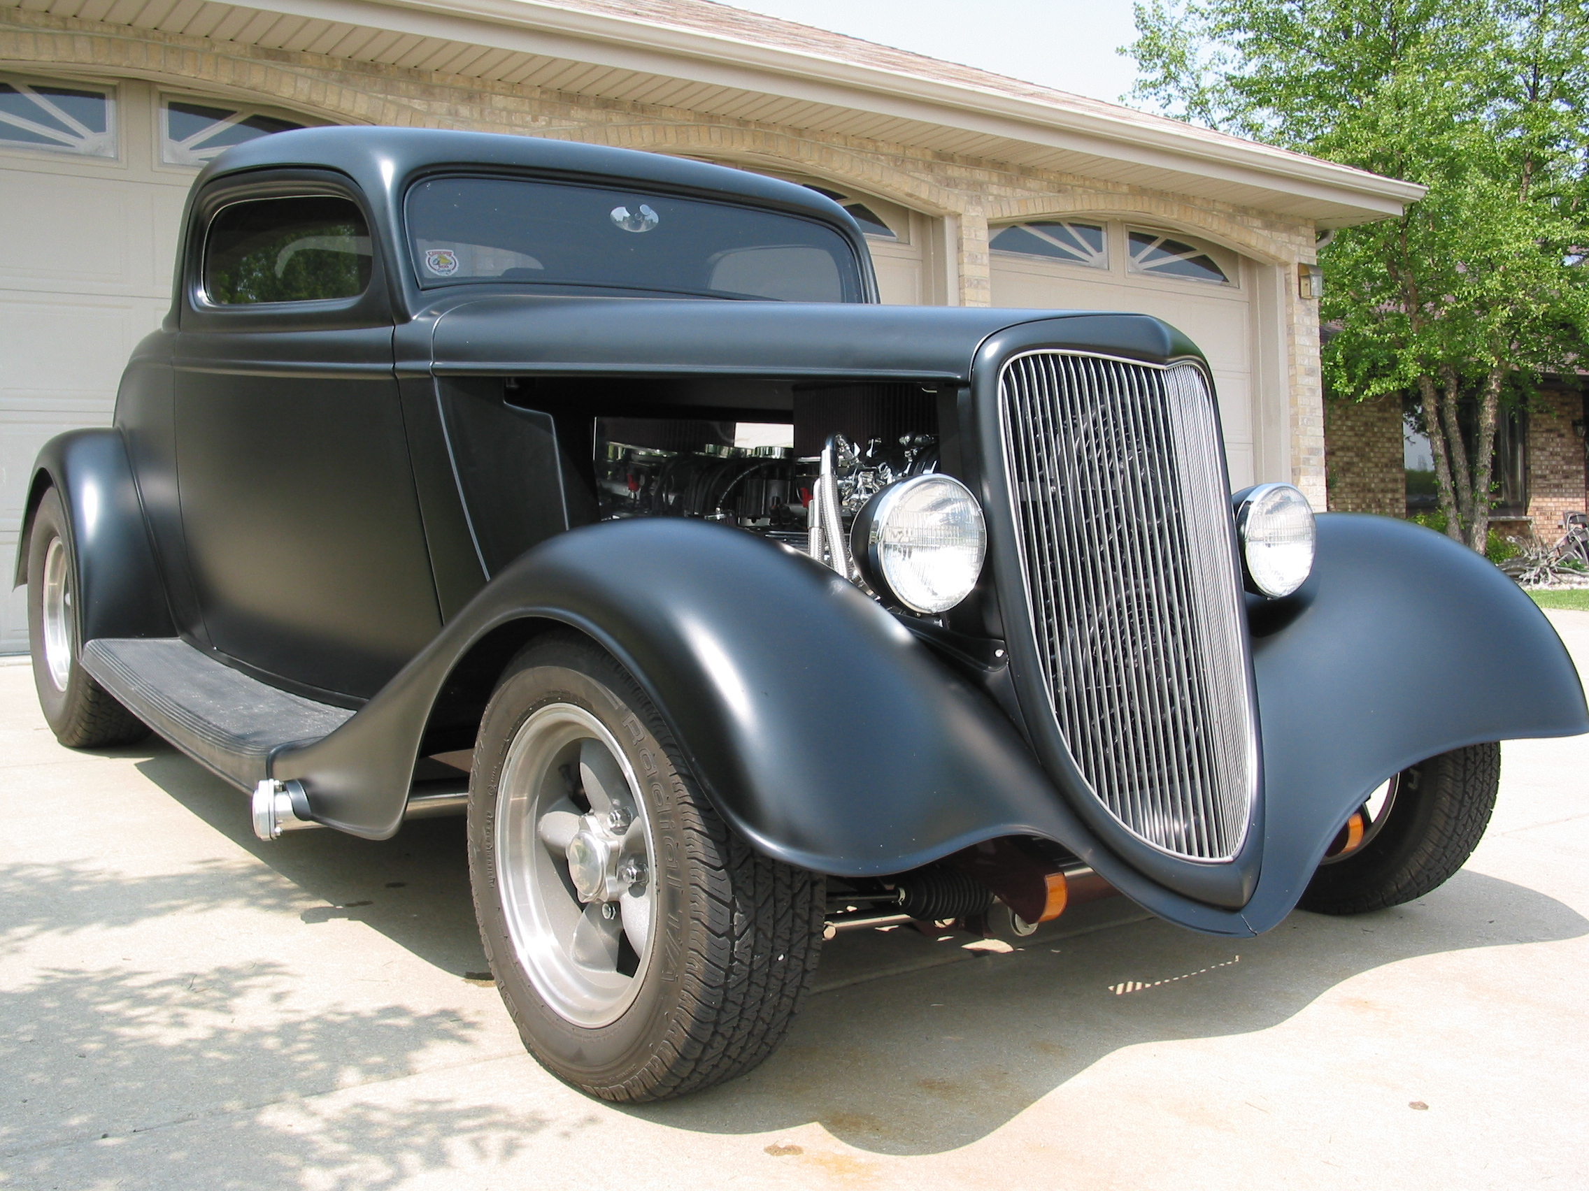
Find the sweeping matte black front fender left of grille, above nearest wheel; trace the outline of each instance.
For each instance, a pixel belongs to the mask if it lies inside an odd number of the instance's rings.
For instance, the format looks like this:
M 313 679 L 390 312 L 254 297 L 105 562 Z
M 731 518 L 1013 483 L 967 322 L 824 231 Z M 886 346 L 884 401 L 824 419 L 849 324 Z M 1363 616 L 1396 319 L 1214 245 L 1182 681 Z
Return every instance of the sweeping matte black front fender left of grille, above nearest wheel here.
M 369 707 L 288 750 L 316 818 L 396 831 L 451 664 L 496 627 L 569 624 L 656 702 L 709 797 L 758 848 L 822 872 L 899 872 L 992 835 L 1052 834 L 1058 800 L 1014 727 L 898 621 L 809 559 L 685 519 L 563 534 L 494 578 Z M 372 764 L 375 762 L 375 764 Z M 388 765 L 389 767 L 389 765 Z

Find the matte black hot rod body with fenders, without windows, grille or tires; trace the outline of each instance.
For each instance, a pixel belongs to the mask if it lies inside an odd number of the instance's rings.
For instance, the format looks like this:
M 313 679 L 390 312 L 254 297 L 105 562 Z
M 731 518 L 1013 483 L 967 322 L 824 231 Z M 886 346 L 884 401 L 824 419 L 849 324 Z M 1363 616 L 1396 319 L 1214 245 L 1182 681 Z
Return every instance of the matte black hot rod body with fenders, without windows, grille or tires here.
M 1290 912 L 1346 816 L 1409 764 L 1589 729 L 1564 646 L 1494 567 L 1416 526 L 1322 516 L 1308 583 L 1284 600 L 1249 597 L 1263 797 L 1238 864 L 1214 873 L 1109 846 L 1077 813 L 1081 778 L 1031 648 L 1003 619 L 999 592 L 1020 576 L 998 513 L 998 375 L 1034 348 L 1149 364 L 1200 360 L 1197 348 L 1138 314 L 421 287 L 404 194 L 458 170 L 610 179 L 825 221 L 876 295 L 864 240 L 834 203 L 688 160 L 321 129 L 210 165 L 172 314 L 133 354 L 114 429 L 46 446 L 29 515 L 48 486 L 62 492 L 84 642 L 181 638 L 343 710 L 318 738 L 230 757 L 175 718 L 151 721 L 245 789 L 299 780 L 315 819 L 389 837 L 416 762 L 469 748 L 507 659 L 561 622 L 629 669 L 718 810 L 771 856 L 868 877 L 1038 835 L 1163 918 L 1241 935 Z M 305 191 L 364 210 L 365 294 L 291 310 L 205 303 L 194 229 L 237 195 Z M 596 522 L 569 429 L 582 402 L 775 421 L 810 384 L 915 386 L 931 400 L 942 470 L 980 497 L 990 529 L 982 584 L 941 621 L 891 615 L 734 529 Z M 1465 646 L 1436 653 L 1430 640 Z

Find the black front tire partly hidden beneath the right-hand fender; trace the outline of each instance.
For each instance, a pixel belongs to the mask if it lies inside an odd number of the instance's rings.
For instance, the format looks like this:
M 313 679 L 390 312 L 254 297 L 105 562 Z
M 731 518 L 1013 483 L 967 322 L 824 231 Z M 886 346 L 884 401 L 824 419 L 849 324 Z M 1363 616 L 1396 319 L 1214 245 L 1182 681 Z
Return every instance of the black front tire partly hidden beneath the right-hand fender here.
M 1360 915 L 1411 902 L 1460 869 L 1489 826 L 1500 745 L 1470 745 L 1419 762 L 1397 784 L 1389 818 L 1357 853 L 1324 864 L 1298 905 Z

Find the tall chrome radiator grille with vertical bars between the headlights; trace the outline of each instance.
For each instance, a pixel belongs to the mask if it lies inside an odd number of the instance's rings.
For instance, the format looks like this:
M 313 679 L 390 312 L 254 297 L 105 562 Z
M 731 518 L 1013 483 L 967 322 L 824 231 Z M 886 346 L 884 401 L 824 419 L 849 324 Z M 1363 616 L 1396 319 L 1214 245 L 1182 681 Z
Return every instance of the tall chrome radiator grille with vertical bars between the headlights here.
M 1255 786 L 1243 608 L 1203 373 L 1063 353 L 999 378 L 1042 680 L 1100 802 L 1176 856 L 1230 859 Z

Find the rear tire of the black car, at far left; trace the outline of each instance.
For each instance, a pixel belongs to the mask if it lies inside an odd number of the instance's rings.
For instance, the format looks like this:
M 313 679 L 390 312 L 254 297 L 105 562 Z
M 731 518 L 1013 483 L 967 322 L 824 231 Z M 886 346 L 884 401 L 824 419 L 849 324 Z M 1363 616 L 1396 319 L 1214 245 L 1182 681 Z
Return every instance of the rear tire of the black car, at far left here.
M 51 545 L 60 542 L 56 565 L 62 569 L 65 583 L 65 616 L 62 627 L 65 640 L 57 642 L 56 656 L 65 670 L 65 681 L 57 681 L 51 667 L 51 649 L 44 632 L 44 572 Z M 27 643 L 33 656 L 33 688 L 44 723 L 56 740 L 68 748 L 110 748 L 132 745 L 149 735 L 149 729 L 116 702 L 103 686 L 95 683 L 79 662 L 83 632 L 78 621 L 76 559 L 68 546 L 67 513 L 60 495 L 51 488 L 38 502 L 33 527 L 27 540 Z

